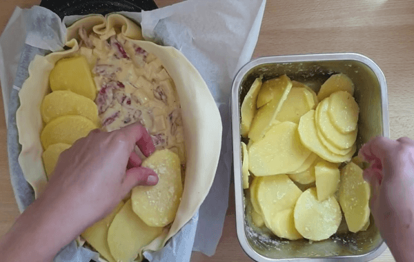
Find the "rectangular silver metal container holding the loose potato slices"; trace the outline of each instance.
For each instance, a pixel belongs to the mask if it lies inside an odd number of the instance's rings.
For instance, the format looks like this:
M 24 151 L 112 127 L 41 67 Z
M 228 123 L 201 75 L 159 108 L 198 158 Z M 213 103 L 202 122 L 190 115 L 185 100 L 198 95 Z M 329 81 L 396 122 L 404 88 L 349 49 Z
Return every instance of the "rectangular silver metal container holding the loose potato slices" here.
M 247 63 L 237 73 L 232 88 L 231 114 L 237 237 L 243 250 L 255 261 L 370 261 L 386 248 L 374 225 L 366 231 L 334 234 L 330 239 L 312 242 L 305 239 L 279 239 L 270 230 L 251 222 L 248 190 L 243 190 L 240 141 L 240 107 L 253 81 L 287 74 L 292 80 L 306 83 L 317 92 L 332 74 L 342 72 L 355 84 L 359 104 L 358 150 L 378 135 L 389 137 L 386 81 L 380 68 L 361 54 L 304 54 L 262 57 Z M 345 223 L 342 219 L 342 223 Z M 344 224 L 342 224 L 344 225 Z M 341 228 L 341 226 L 339 227 Z

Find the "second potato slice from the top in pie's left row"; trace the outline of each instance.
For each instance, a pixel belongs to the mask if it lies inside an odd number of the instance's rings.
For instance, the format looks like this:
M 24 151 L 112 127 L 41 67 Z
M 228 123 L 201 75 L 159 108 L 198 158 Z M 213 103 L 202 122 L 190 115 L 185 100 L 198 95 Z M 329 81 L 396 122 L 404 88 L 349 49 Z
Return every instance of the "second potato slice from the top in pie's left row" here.
M 80 94 L 70 91 L 55 91 L 43 99 L 41 117 L 45 123 L 68 114 L 86 117 L 96 125 L 100 125 L 97 105 Z

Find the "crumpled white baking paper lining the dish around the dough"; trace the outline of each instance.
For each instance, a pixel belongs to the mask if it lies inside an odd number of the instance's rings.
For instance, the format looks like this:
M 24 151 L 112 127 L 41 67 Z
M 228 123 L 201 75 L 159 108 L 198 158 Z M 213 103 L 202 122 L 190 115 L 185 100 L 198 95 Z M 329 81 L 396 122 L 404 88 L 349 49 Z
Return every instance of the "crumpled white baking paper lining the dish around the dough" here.
M 265 4 L 266 0 L 188 0 L 141 14 L 121 12 L 126 17 L 141 22 L 146 39 L 174 46 L 193 63 L 208 84 L 223 121 L 224 137 L 219 166 L 198 217 L 189 221 L 165 248 L 154 254 L 147 253 L 146 257 L 150 261 L 189 261 L 191 247 L 208 256 L 215 253 L 228 207 L 232 164 L 229 113 L 231 83 L 239 68 L 253 54 Z M 75 19 L 79 17 L 67 17 L 64 22 L 70 23 Z M 17 158 L 15 161 L 12 159 L 18 156 L 13 152 L 19 152 L 19 144 L 14 114 L 8 112 L 8 106 L 15 113 L 19 101 L 12 90 L 18 92 L 26 79 L 27 66 L 34 53 L 45 54 L 46 50 L 61 49 L 66 34 L 63 25 L 57 20 L 56 14 L 45 8 L 17 8 L 0 37 L 0 81 L 6 119 L 9 116 L 10 176 L 20 210 L 32 201 L 32 195 L 28 192 L 30 188 L 27 183 L 23 183 L 19 177 L 21 170 L 16 166 Z M 73 250 L 73 245 L 70 247 Z M 56 261 L 83 261 L 95 255 L 85 256 L 88 252 L 81 249 L 76 252 L 77 254 L 68 256 L 66 250 L 65 256 L 71 258 L 60 257 Z

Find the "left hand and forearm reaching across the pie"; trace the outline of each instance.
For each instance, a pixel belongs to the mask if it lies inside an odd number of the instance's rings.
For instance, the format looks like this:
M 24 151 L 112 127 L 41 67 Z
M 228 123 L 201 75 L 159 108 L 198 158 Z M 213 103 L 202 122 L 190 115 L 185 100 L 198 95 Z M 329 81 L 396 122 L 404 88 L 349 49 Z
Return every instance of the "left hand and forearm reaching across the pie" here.
M 141 125 L 92 131 L 62 152 L 48 186 L 0 240 L 0 261 L 52 261 L 57 252 L 106 214 L 135 185 L 155 185 L 134 145 L 150 155 L 152 140 Z

